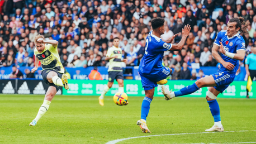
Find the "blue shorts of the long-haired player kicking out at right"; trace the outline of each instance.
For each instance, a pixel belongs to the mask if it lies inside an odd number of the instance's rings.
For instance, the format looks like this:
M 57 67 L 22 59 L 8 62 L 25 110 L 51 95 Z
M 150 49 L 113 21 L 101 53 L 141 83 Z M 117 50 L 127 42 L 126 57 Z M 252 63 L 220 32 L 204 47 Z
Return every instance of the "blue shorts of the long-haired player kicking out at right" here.
M 214 81 L 217 84 L 217 86 L 214 88 L 221 93 L 223 93 L 224 90 L 229 87 L 229 84 L 231 84 L 235 79 L 235 73 L 230 74 L 227 71 L 220 69 L 217 73 L 212 74 L 212 76 L 214 77 Z

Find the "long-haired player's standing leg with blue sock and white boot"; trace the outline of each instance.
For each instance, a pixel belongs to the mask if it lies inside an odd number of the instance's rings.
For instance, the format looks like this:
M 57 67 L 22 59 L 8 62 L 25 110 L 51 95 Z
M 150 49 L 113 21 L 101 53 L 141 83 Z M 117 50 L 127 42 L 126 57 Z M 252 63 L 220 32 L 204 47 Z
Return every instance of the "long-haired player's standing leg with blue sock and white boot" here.
M 207 132 L 212 132 L 212 131 L 223 132 L 224 131 L 224 127 L 222 126 L 220 121 L 220 107 L 216 99 L 217 95 L 219 94 L 220 92 L 217 91 L 214 87 L 210 87 L 206 95 L 206 100 L 207 100 L 207 103 L 209 104 L 212 117 L 214 117 L 214 126 L 212 126 L 210 129 L 206 129 L 205 131 Z

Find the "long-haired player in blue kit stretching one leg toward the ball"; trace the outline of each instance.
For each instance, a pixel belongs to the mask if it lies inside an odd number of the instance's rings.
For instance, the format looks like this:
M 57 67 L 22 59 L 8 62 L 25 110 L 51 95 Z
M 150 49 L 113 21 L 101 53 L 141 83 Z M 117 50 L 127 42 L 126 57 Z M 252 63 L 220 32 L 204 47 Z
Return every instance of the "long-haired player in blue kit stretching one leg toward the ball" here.
M 244 25 L 241 27 L 241 25 Z M 227 30 L 218 33 L 217 38 L 212 47 L 212 56 L 221 64 L 217 73 L 197 80 L 196 83 L 188 85 L 176 92 L 169 92 L 162 86 L 163 94 L 166 100 L 174 97 L 180 97 L 196 92 L 203 87 L 210 87 L 206 94 L 207 103 L 214 117 L 214 126 L 205 131 L 224 131 L 220 121 L 220 107 L 216 100 L 219 93 L 229 87 L 235 79 L 236 70 L 239 67 L 239 60 L 243 61 L 245 56 L 245 42 L 240 33 L 248 33 L 246 31 L 248 23 L 244 22 L 244 18 L 231 18 L 227 23 Z M 220 47 L 221 56 L 218 54 Z

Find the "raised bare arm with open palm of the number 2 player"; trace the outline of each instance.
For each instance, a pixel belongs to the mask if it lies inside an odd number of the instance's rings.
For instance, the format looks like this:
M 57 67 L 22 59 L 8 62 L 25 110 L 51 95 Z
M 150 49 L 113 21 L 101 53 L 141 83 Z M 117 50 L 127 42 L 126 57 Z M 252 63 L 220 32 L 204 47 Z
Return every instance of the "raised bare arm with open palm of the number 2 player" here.
M 186 42 L 186 39 L 188 37 L 188 34 L 191 30 L 190 25 L 186 25 L 184 28 L 182 28 L 182 39 L 177 45 L 172 45 L 172 48 L 170 50 L 181 50 Z M 175 36 L 175 35 L 174 35 Z

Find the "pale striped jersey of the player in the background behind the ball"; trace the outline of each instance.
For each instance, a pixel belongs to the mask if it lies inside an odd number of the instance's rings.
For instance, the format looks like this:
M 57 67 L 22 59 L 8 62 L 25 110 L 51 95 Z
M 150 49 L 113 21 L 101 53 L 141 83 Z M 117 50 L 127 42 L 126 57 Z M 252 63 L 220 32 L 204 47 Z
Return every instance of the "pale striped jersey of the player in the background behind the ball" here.
M 120 47 L 112 46 L 107 50 L 108 57 L 118 56 L 117 58 L 110 59 L 110 65 L 108 66 L 108 71 L 122 71 L 121 59 L 122 59 L 122 49 Z

